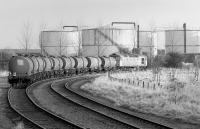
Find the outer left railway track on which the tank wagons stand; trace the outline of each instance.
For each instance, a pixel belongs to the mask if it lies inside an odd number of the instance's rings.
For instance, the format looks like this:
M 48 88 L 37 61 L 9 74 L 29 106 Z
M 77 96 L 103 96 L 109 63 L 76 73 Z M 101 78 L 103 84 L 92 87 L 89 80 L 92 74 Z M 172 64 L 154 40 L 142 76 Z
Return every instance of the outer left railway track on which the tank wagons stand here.
M 48 81 L 53 81 L 48 80 Z M 34 83 L 40 85 L 44 81 Z M 26 95 L 25 89 L 9 89 L 8 101 L 10 106 L 22 117 L 31 121 L 42 129 L 79 129 L 77 126 L 54 117 L 46 111 L 35 106 Z

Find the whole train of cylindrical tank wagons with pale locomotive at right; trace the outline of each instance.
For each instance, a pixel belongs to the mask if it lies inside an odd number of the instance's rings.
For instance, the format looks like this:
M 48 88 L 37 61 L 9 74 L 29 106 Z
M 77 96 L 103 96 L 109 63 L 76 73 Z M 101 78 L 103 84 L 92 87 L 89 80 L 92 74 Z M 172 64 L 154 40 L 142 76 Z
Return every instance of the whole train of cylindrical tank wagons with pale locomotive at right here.
M 13 56 L 9 61 L 8 82 L 14 88 L 25 88 L 39 80 L 113 70 L 145 69 L 145 55 L 109 57 Z

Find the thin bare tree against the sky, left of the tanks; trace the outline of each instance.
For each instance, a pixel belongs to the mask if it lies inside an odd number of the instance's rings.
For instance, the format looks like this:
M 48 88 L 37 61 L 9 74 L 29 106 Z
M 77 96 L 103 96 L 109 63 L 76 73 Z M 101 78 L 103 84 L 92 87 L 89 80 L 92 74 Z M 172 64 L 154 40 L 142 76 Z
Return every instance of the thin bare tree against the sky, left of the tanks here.
M 28 52 L 28 49 L 31 48 L 32 42 L 32 25 L 29 21 L 24 22 L 20 34 L 19 42 L 22 48 Z

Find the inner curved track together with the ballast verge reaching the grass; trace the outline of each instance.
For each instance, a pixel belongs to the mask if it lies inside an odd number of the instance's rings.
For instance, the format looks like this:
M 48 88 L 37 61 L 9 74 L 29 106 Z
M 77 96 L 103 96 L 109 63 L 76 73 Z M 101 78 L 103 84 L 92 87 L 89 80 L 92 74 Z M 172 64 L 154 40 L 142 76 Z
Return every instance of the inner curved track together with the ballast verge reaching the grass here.
M 90 80 L 89 80 L 90 81 Z M 105 116 L 117 119 L 123 123 L 137 128 L 176 128 L 176 129 L 199 129 L 199 125 L 187 123 L 177 119 L 169 119 L 151 114 L 141 113 L 138 111 L 130 111 L 128 109 L 119 108 L 111 103 L 105 103 L 104 99 L 97 99 L 80 89 L 80 86 L 88 80 L 79 79 L 67 81 L 66 86 L 62 81 L 54 82 L 51 88 L 61 96 L 71 101 L 85 106 L 91 110 L 95 110 Z M 103 100 L 103 101 L 102 101 Z

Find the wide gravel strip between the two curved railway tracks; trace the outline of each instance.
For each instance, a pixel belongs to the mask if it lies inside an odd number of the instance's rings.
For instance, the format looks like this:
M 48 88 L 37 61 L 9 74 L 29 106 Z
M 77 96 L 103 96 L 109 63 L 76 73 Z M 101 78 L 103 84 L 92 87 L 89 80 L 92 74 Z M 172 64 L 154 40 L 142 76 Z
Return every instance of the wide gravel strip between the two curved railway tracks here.
M 127 124 L 61 97 L 50 86 L 51 82 L 45 82 L 27 88 L 27 94 L 32 102 L 50 114 L 84 129 L 133 129 Z

